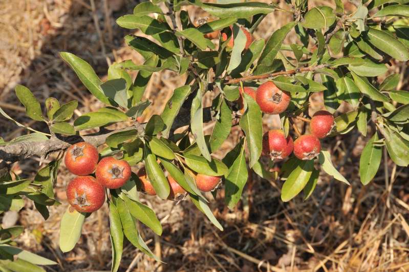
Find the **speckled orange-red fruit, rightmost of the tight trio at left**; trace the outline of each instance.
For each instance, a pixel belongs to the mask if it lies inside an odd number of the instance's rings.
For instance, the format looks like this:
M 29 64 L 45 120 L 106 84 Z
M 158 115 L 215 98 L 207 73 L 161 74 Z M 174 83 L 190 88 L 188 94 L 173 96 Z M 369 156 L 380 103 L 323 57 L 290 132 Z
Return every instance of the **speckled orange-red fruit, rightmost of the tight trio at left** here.
M 131 166 L 126 160 L 105 157 L 99 161 L 95 176 L 105 187 L 117 189 L 131 177 Z

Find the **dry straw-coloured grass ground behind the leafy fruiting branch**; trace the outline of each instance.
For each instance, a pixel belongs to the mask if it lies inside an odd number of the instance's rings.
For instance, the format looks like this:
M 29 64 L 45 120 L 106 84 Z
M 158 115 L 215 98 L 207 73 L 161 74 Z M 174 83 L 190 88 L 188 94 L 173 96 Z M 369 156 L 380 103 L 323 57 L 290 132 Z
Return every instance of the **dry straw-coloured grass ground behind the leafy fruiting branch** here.
M 344 1 L 345 2 L 345 1 Z M 115 19 L 132 13 L 135 0 L 0 0 L 0 107 L 16 120 L 45 131 L 40 122 L 24 117 L 14 87 L 29 87 L 40 101 L 56 97 L 60 102 L 79 101 L 74 117 L 94 111 L 102 104 L 81 85 L 74 72 L 58 57 L 68 51 L 87 60 L 104 79 L 109 64 L 132 58 L 141 63 L 138 53 L 126 48 Z M 283 7 L 283 3 L 279 3 Z M 345 3 L 347 7 L 353 6 Z M 317 0 L 310 6 L 333 2 Z M 206 16 L 189 8 L 193 20 Z M 268 38 L 291 18 L 283 12 L 268 15 L 254 34 Z M 292 32 L 286 44 L 295 43 Z M 401 89 L 407 90 L 406 64 L 391 67 L 402 74 Z M 184 78 L 164 71 L 155 73 L 145 97 L 153 101 L 145 118 L 160 113 Z M 210 96 L 205 103 L 210 103 Z M 324 108 L 322 95 L 311 98 L 310 113 Z M 346 105 L 340 107 L 347 110 Z M 273 117 L 264 117 L 265 130 L 277 125 Z M 206 126 L 207 131 L 211 124 Z M 0 136 L 10 140 L 27 133 L 0 117 Z M 238 141 L 235 127 L 218 156 Z M 155 236 L 140 225 L 148 246 L 164 263 L 156 263 L 130 243 L 124 243 L 121 271 L 407 271 L 409 270 L 409 189 L 407 168 L 397 167 L 386 154 L 375 180 L 367 186 L 359 181 L 359 155 L 364 147 L 362 136 L 349 133 L 322 142 L 333 154 L 335 165 L 345 162 L 340 172 L 351 182 L 346 186 L 321 173 L 312 197 L 297 196 L 288 203 L 280 198 L 282 181 L 262 180 L 251 175 L 243 201 L 234 211 L 223 205 L 223 191 L 217 200 L 211 195 L 214 215 L 225 227 L 218 231 L 189 201 L 175 203 L 143 196 L 163 225 L 163 236 Z M 52 159 L 52 158 L 49 158 Z M 46 161 L 47 162 L 47 161 Z M 39 159 L 21 161 L 13 166 L 17 174 L 32 177 Z M 280 164 L 276 167 L 279 169 Z M 135 168 L 137 170 L 137 168 Z M 6 213 L 3 226 L 24 225 L 17 240 L 19 246 L 41 256 L 57 260 L 49 271 L 109 270 L 111 244 L 106 205 L 85 220 L 82 236 L 70 253 L 58 248 L 58 229 L 67 208 L 64 188 L 74 176 L 62 166 L 56 187 L 63 203 L 50 208 L 44 221 L 32 202 L 18 214 Z M 325 201 L 320 204 L 324 197 Z

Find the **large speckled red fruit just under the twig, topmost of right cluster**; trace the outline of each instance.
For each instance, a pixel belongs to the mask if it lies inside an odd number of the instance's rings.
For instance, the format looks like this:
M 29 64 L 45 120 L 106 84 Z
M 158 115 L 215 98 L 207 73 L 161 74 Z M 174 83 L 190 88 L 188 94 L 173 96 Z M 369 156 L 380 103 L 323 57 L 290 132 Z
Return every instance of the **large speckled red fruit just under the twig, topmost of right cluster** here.
M 264 82 L 257 89 L 255 101 L 260 109 L 268 114 L 280 114 L 284 112 L 290 104 L 290 93 L 282 91 L 271 81 Z

